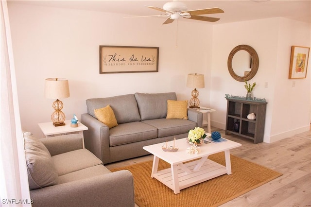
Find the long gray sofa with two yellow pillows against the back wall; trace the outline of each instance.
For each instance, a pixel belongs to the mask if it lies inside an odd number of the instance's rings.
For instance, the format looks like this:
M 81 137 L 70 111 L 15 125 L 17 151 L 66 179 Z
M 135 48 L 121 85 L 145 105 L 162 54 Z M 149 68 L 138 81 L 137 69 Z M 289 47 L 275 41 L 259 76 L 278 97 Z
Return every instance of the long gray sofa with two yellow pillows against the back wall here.
M 86 149 L 106 164 L 148 155 L 143 146 L 173 137 L 186 138 L 190 129 L 202 127 L 202 113 L 193 109 L 188 109 L 188 120 L 166 119 L 167 100 L 177 100 L 176 94 L 135 93 L 87 99 L 88 113 L 81 116 L 81 122 L 88 127 L 84 131 Z M 110 129 L 94 114 L 94 109 L 108 104 L 118 122 L 118 126 Z

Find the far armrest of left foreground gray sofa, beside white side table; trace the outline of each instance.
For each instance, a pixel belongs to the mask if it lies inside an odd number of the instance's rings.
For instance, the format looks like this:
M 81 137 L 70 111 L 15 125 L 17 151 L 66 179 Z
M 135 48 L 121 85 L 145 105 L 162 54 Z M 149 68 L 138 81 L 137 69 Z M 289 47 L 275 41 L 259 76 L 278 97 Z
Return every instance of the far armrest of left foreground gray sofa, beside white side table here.
M 79 134 L 40 138 L 39 140 L 48 148 L 51 156 L 83 148 L 83 138 Z

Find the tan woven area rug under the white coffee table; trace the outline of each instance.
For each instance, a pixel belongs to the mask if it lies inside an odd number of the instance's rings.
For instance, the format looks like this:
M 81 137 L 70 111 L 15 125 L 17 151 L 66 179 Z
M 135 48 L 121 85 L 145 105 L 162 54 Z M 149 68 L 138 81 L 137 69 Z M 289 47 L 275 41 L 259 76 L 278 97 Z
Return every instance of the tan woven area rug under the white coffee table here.
M 225 165 L 225 154 L 210 155 L 208 159 Z M 170 168 L 162 160 L 158 170 Z M 174 194 L 155 178 L 151 178 L 152 161 L 138 163 L 112 172 L 128 170 L 134 177 L 135 201 L 139 207 L 209 207 L 222 205 L 252 189 L 282 175 L 266 167 L 231 155 L 231 175 L 221 175 Z

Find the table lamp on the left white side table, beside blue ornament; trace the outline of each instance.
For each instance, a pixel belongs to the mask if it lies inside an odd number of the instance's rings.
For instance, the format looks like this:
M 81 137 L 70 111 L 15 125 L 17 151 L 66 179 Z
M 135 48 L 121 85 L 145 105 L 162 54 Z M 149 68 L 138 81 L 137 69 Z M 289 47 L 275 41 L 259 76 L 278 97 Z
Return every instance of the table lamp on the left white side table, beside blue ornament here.
M 52 107 L 55 110 L 51 116 L 53 125 L 65 125 L 64 121 L 66 116 L 64 112 L 61 111 L 64 107 L 64 104 L 58 99 L 68 98 L 70 96 L 68 80 L 64 78 L 45 79 L 44 95 L 47 99 L 56 99 L 56 101 L 54 101 L 52 104 Z

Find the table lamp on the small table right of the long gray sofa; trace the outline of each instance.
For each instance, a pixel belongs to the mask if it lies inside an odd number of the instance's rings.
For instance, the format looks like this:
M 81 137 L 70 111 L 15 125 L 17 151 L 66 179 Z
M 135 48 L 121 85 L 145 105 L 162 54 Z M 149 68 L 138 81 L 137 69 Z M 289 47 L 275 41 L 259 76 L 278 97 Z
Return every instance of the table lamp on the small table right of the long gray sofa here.
M 197 73 L 188 74 L 187 87 L 194 88 L 194 90 L 191 91 L 192 98 L 189 102 L 190 108 L 200 108 L 200 100 L 198 99 L 199 91 L 197 88 L 204 87 L 204 75 Z

